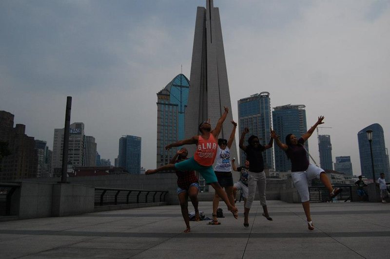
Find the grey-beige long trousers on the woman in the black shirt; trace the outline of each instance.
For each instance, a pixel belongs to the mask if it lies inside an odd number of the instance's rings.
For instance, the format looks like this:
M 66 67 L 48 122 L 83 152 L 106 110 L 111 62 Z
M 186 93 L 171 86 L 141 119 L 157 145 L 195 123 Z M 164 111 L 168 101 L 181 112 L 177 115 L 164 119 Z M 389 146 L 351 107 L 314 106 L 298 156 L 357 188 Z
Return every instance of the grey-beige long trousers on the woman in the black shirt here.
M 265 200 L 265 186 L 266 186 L 266 178 L 265 172 L 262 171 L 260 173 L 254 173 L 248 171 L 248 198 L 245 207 L 250 209 L 252 207 L 252 203 L 254 200 L 254 195 L 256 194 L 256 187 L 259 192 L 260 204 L 262 206 L 266 206 Z

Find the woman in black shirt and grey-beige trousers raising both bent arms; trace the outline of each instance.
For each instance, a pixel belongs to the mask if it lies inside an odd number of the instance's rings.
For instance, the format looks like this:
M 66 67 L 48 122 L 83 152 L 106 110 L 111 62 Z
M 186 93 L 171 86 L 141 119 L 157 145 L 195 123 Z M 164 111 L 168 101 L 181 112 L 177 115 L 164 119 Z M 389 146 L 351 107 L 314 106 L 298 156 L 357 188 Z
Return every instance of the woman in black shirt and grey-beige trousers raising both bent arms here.
M 264 161 L 262 152 L 268 148 L 272 148 L 273 139 L 270 139 L 268 145 L 262 146 L 259 143 L 257 136 L 250 136 L 248 138 L 248 146 L 244 145 L 245 135 L 249 133 L 249 128 L 245 128 L 240 137 L 240 148 L 246 153 L 247 160 L 249 161 L 248 171 L 248 198 L 244 206 L 244 226 L 249 227 L 249 211 L 251 210 L 252 203 L 254 201 L 254 195 L 256 194 L 256 187 L 258 189 L 260 204 L 263 206 L 263 216 L 272 221 L 268 213 L 267 202 L 265 198 L 266 189 L 266 177 L 264 172 Z

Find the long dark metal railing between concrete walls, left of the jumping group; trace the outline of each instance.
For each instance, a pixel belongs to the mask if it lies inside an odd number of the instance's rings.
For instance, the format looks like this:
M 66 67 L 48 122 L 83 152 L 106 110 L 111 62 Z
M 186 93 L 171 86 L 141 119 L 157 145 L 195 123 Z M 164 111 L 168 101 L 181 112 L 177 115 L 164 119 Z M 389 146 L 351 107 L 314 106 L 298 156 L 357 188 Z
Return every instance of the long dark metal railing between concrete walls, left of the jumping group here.
M 168 191 L 95 187 L 95 206 L 165 202 Z

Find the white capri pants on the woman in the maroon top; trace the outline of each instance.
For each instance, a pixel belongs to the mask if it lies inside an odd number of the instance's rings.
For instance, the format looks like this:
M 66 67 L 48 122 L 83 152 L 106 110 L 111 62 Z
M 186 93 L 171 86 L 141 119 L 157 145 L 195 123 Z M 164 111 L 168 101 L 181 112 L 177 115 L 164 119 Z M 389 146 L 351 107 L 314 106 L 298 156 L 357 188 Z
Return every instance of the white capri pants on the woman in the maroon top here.
M 314 178 L 320 178 L 320 173 L 324 172 L 320 167 L 309 164 L 306 171 L 292 172 L 291 177 L 294 182 L 294 186 L 297 189 L 299 196 L 301 196 L 302 203 L 310 200 L 309 185 L 308 182 Z

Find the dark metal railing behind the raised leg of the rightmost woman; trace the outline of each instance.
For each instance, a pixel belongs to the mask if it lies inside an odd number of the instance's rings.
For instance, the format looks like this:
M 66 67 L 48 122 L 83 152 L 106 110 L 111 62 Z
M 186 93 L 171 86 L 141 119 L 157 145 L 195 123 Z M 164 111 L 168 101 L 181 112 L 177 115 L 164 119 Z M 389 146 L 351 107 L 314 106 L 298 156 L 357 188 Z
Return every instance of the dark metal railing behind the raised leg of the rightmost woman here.
M 312 186 L 309 187 L 310 202 L 352 202 L 352 185 L 338 185 L 333 188 L 342 188 L 343 191 L 333 199 L 329 197 L 329 191 L 325 186 Z

